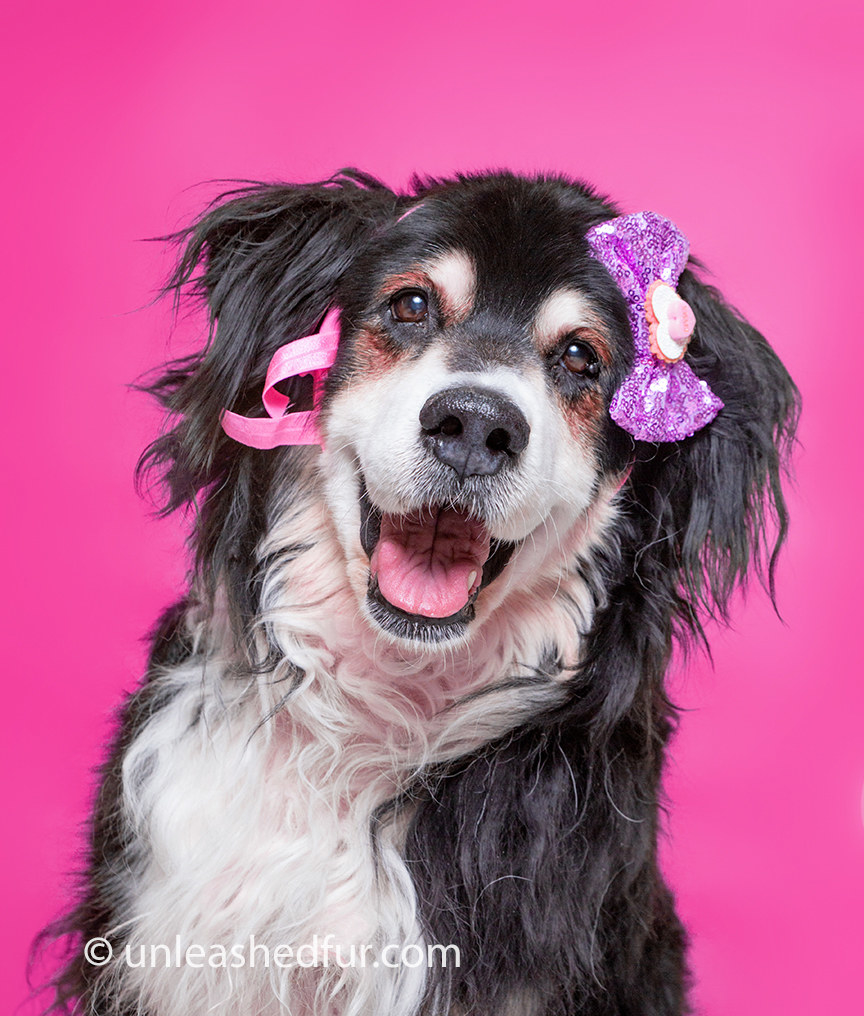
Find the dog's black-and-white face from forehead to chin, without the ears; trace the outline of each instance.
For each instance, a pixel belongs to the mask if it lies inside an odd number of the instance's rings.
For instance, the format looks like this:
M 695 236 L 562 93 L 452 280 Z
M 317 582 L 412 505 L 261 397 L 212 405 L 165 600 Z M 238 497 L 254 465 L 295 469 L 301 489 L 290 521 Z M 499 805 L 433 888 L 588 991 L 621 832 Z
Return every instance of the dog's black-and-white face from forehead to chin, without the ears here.
M 456 186 L 343 280 L 322 465 L 364 614 L 393 639 L 466 640 L 600 538 L 632 338 L 590 225 L 539 188 Z

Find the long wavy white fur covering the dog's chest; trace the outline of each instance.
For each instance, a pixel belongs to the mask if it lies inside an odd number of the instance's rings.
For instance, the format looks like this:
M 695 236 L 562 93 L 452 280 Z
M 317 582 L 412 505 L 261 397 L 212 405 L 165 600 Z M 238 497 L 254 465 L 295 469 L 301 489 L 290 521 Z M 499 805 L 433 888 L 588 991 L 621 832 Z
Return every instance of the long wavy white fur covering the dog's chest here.
M 425 764 L 490 740 L 550 701 L 558 686 L 539 681 L 482 696 L 442 720 L 432 709 L 451 697 L 442 693 L 443 661 L 382 682 L 368 659 L 363 672 L 362 658 L 336 661 L 332 673 L 310 668 L 275 712 L 288 691 L 279 675 L 250 684 L 211 663 L 162 679 L 175 697 L 141 729 L 124 764 L 124 806 L 147 844 L 126 950 L 128 985 L 144 1008 L 161 1016 L 222 1006 L 415 1011 L 425 963 L 376 963 L 387 945 L 425 948 L 400 851 L 409 816 L 376 823 L 376 810 Z M 500 680 L 497 653 L 483 662 L 464 691 L 488 684 L 493 672 Z M 189 946 L 202 947 L 203 961 L 175 965 L 178 941 L 184 956 Z M 316 942 L 327 952 L 319 950 L 310 968 Z M 151 955 L 160 944 L 170 947 L 170 965 L 165 950 Z M 292 957 L 305 946 L 305 965 L 277 965 L 279 946 Z

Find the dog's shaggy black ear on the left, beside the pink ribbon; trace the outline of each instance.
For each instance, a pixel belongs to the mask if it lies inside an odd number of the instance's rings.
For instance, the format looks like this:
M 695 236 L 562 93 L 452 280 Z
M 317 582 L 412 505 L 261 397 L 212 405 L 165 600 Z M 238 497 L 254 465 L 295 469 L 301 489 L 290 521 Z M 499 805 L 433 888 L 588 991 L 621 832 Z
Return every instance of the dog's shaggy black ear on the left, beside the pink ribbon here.
M 315 330 L 354 258 L 405 200 L 345 170 L 319 184 L 257 184 L 225 194 L 171 238 L 182 253 L 166 293 L 177 303 L 204 303 L 209 337 L 200 354 L 141 386 L 166 407 L 169 427 L 141 456 L 137 477 L 143 486 L 159 475 L 163 513 L 195 507 L 195 595 L 211 604 L 222 584 L 238 646 L 257 610 L 257 548 L 270 479 L 285 456 L 230 439 L 223 409 L 261 412 L 273 353 Z M 302 403 L 302 379 L 287 393 Z

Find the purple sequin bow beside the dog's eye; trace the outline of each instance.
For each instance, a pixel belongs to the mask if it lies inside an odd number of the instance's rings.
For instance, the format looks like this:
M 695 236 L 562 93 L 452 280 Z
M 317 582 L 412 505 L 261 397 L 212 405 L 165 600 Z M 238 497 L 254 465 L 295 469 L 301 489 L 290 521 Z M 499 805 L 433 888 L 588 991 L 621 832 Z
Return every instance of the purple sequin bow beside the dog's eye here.
M 668 218 L 637 211 L 593 227 L 587 239 L 627 301 L 636 347 L 633 369 L 612 397 L 612 419 L 638 441 L 690 437 L 714 420 L 723 402 L 683 360 L 669 363 L 653 352 L 646 309 L 650 291 L 660 285 L 668 295 L 678 283 L 687 264 L 687 238 Z

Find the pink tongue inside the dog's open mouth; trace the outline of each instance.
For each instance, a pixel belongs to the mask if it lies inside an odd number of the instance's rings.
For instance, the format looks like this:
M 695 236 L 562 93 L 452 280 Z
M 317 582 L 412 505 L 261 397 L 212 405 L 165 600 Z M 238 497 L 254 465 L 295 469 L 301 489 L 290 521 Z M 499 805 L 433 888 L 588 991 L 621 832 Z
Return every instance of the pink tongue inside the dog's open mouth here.
M 393 607 L 425 618 L 448 618 L 480 585 L 489 557 L 482 522 L 451 508 L 383 515 L 372 574 Z

